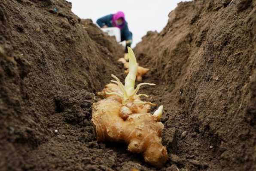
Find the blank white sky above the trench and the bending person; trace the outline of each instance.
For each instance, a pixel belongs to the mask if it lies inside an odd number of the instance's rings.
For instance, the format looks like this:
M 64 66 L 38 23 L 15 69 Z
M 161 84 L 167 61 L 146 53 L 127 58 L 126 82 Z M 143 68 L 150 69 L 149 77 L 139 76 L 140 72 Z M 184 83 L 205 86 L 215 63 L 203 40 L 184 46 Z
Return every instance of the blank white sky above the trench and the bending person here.
M 123 11 L 133 33 L 134 47 L 149 30 L 160 32 L 168 21 L 168 14 L 181 0 L 68 0 L 72 12 L 80 18 L 100 17 Z M 183 0 L 184 1 L 184 0 Z

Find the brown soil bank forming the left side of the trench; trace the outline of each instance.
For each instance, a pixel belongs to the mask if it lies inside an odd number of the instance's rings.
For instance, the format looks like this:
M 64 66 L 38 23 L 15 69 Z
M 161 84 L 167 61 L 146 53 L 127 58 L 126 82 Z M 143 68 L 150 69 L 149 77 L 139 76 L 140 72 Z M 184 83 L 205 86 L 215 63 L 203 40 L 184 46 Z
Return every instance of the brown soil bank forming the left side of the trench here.
M 67 1 L 1 0 L 0 170 L 75 170 L 87 156 L 113 165 L 111 152 L 85 144 L 94 141 L 94 92 L 119 73 L 122 56 Z

